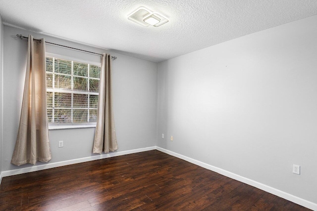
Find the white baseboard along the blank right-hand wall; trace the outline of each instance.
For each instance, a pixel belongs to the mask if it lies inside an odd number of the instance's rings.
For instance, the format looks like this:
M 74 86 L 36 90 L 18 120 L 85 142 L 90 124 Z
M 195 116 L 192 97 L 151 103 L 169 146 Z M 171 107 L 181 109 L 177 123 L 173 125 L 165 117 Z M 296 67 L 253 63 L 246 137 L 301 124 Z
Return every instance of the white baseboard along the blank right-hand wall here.
M 227 176 L 229 178 L 232 178 L 232 179 L 238 180 L 240 182 L 246 183 L 246 184 L 251 185 L 253 187 L 259 188 L 261 190 L 264 190 L 265 192 L 274 194 L 275 196 L 278 196 L 278 197 L 281 197 L 281 198 L 286 199 L 288 201 L 294 202 L 294 203 L 296 203 L 298 205 L 301 205 L 303 207 L 306 207 L 306 208 L 309 208 L 311 210 L 317 211 L 317 204 L 315 204 L 313 202 L 310 202 L 310 201 L 307 201 L 305 199 L 299 198 L 297 196 L 291 195 L 289 193 L 286 193 L 284 191 L 281 191 L 281 190 L 278 190 L 276 188 L 270 187 L 268 185 L 262 184 L 260 182 L 254 181 L 252 179 L 248 179 L 246 177 L 240 176 L 240 175 L 232 173 L 230 171 L 227 171 L 227 170 L 224 170 L 224 169 L 220 169 L 220 168 L 211 166 L 209 164 L 197 161 L 195 159 L 180 155 L 178 153 L 175 153 L 175 152 L 160 148 L 158 146 L 156 147 L 156 149 L 159 150 L 160 152 L 166 153 L 166 154 L 174 156 L 176 158 L 180 158 L 180 159 L 182 159 L 184 161 L 188 161 L 188 162 L 190 162 L 192 164 L 195 164 L 197 166 L 203 167 L 205 169 L 209 169 L 209 170 L 212 170 L 214 172 L 220 173 L 220 174 L 222 174 L 224 176 Z

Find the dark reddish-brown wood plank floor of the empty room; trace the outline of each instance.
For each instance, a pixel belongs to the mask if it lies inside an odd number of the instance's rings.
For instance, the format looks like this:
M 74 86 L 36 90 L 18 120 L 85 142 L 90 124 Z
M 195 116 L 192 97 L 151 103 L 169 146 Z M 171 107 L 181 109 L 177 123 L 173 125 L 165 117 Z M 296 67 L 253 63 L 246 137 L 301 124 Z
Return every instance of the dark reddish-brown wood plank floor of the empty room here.
M 157 150 L 3 177 L 0 210 L 308 211 Z

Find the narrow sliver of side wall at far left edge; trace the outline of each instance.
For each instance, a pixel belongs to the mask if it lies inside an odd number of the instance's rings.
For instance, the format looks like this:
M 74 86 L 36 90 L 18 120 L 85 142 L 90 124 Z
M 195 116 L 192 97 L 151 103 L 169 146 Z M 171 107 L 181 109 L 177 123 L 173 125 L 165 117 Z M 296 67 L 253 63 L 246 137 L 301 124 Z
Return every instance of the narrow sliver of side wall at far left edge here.
M 3 25 L 0 16 L 0 175 L 2 172 L 2 38 L 3 38 Z

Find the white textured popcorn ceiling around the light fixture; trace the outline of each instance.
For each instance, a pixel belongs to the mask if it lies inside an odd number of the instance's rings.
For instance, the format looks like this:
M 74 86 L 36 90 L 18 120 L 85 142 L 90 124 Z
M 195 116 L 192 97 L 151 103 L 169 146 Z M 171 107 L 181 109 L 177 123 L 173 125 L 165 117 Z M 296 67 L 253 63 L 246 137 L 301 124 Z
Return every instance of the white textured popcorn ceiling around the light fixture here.
M 143 27 L 140 6 L 169 22 Z M 317 0 L 0 0 L 4 24 L 154 62 L 317 14 Z

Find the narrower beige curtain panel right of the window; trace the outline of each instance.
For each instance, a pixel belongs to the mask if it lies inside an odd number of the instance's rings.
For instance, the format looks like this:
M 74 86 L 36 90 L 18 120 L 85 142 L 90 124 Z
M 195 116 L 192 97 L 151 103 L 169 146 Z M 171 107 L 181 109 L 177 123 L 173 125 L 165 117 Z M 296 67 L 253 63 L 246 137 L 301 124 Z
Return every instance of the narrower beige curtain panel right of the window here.
M 111 56 L 104 53 L 101 61 L 97 127 L 93 153 L 101 154 L 103 151 L 108 153 L 117 149 L 112 107 Z

